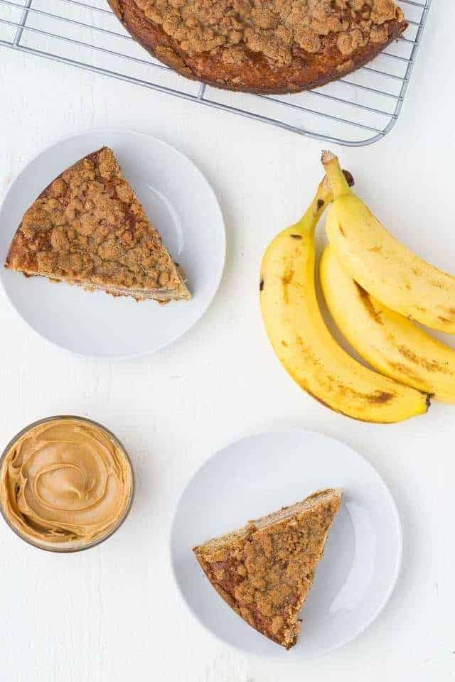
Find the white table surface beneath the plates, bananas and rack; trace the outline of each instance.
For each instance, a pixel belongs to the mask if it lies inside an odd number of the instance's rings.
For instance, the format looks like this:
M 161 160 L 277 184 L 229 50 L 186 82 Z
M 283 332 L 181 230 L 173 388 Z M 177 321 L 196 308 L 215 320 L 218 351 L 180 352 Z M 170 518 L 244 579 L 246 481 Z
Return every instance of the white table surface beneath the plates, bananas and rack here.
M 454 21 L 453 0 L 434 3 L 395 130 L 374 146 L 338 150 L 382 221 L 452 272 Z M 140 362 L 58 351 L 0 293 L 1 443 L 41 416 L 90 416 L 127 445 L 137 475 L 127 523 L 89 552 L 41 552 L 0 523 L 1 681 L 454 680 L 454 409 L 434 404 L 396 426 L 350 421 L 292 384 L 262 330 L 262 251 L 306 207 L 321 143 L 11 50 L 0 56 L 0 197 L 58 137 L 129 126 L 199 166 L 228 232 L 208 313 Z M 232 440 L 286 426 L 363 453 L 395 495 L 405 533 L 402 573 L 382 615 L 355 642 L 304 664 L 249 658 L 213 639 L 181 603 L 168 561 L 173 509 L 196 467 Z

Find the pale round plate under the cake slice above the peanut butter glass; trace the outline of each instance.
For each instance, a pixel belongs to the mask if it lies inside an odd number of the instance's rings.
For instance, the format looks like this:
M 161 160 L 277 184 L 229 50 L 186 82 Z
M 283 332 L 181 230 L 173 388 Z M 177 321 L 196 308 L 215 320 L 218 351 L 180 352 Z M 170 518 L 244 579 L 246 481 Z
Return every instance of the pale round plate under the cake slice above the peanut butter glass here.
M 208 308 L 225 262 L 225 227 L 207 180 L 186 156 L 137 132 L 98 129 L 64 139 L 23 169 L 0 210 L 4 262 L 23 213 L 59 173 L 95 149 L 112 147 L 173 259 L 183 266 L 191 301 L 159 305 L 102 291 L 26 278 L 0 267 L 7 296 L 34 330 L 56 345 L 95 357 L 136 357 L 180 337 Z M 0 264 L 1 264 L 0 263 Z

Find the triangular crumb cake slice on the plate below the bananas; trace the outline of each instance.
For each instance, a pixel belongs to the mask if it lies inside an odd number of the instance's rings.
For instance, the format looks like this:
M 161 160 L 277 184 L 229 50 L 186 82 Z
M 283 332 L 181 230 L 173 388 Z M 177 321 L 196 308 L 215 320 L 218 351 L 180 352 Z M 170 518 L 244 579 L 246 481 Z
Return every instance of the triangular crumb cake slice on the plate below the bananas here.
M 340 504 L 340 490 L 322 490 L 193 550 L 232 609 L 285 649 L 296 643 L 299 611 Z

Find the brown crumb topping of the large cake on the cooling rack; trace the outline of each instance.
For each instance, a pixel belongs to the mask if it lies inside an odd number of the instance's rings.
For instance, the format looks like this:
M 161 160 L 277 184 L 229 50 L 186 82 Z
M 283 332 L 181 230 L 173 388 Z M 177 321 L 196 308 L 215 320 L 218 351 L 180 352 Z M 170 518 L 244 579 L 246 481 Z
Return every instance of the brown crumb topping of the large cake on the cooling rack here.
M 248 52 L 288 65 L 296 50 L 323 51 L 329 36 L 349 57 L 387 40 L 387 21 L 403 21 L 393 0 L 135 0 L 189 55 L 217 54 L 242 64 Z

